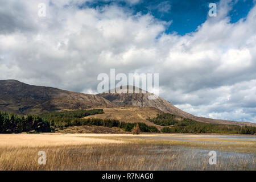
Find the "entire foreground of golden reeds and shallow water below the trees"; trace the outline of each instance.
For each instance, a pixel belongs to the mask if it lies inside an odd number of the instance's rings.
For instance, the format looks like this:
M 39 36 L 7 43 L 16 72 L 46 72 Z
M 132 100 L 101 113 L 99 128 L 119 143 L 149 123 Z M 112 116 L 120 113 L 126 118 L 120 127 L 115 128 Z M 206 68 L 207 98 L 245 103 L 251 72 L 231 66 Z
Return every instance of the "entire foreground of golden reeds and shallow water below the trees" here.
M 256 170 L 255 158 L 246 135 L 0 134 L 0 170 Z

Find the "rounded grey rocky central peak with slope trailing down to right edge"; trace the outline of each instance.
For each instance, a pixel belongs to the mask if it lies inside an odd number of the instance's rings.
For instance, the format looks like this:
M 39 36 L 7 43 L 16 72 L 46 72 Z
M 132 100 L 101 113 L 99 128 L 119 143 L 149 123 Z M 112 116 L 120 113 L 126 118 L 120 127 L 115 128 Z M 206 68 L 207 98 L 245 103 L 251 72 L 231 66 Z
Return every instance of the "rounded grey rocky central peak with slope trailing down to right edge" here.
M 177 116 L 183 117 L 183 118 L 189 118 L 193 119 L 195 121 L 199 122 L 205 122 L 205 123 L 216 123 L 216 124 L 226 124 L 226 125 L 239 125 L 239 126 L 256 126 L 254 123 L 250 122 L 236 122 L 236 121 L 228 121 L 224 119 L 211 119 L 211 118 L 204 118 L 204 117 L 197 117 L 195 115 L 186 113 L 185 111 L 175 107 L 171 104 L 171 102 L 168 102 L 164 100 L 161 97 L 155 97 L 154 94 L 146 92 L 140 88 L 136 88 L 139 90 L 139 93 L 135 93 L 135 86 L 133 86 L 133 89 L 129 89 L 129 86 L 126 87 L 127 93 L 117 93 L 115 92 L 115 89 L 109 90 L 109 93 L 100 93 L 97 94 L 97 96 L 101 96 L 109 100 L 115 105 L 123 106 L 123 105 L 132 105 L 132 106 L 138 106 L 138 107 L 155 107 L 156 109 L 159 109 L 160 111 L 163 111 L 165 113 L 171 113 L 175 114 Z M 143 93 L 144 91 L 144 93 Z M 149 98 L 155 97 L 155 100 L 150 100 Z

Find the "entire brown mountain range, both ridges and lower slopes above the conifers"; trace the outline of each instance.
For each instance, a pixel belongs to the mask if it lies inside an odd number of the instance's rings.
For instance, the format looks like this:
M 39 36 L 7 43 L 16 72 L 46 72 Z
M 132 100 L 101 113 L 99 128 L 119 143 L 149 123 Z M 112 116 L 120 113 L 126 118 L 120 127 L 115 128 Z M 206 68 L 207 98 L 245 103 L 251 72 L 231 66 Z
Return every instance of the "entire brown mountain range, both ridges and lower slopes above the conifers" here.
M 15 114 L 40 114 L 59 110 L 102 108 L 105 109 L 106 113 L 100 117 L 113 119 L 125 117 L 121 120 L 126 122 L 135 122 L 137 121 L 135 118 L 147 122 L 147 118 L 155 117 L 160 112 L 166 112 L 205 123 L 256 126 L 255 123 L 249 122 L 196 117 L 178 109 L 161 97 L 150 100 L 150 97 L 155 97 L 154 94 L 137 89 L 139 93 L 134 93 L 135 87 L 133 87 L 133 90 L 127 89 L 127 93 L 117 93 L 115 90 L 110 90 L 114 93 L 93 95 L 47 86 L 28 85 L 17 80 L 0 80 L 0 111 Z M 133 107 L 123 107 L 125 105 Z M 144 109 L 144 107 L 147 108 Z M 93 117 L 99 117 L 99 115 Z

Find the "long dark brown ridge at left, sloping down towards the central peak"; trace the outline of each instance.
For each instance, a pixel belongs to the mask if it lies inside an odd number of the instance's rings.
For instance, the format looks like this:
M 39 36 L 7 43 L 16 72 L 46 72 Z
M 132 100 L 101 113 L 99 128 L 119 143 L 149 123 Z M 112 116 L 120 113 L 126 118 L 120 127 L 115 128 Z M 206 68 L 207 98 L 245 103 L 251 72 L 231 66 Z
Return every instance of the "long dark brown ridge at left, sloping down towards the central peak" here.
M 16 80 L 0 80 L 0 110 L 16 114 L 39 114 L 56 110 L 115 106 L 103 97 L 34 86 Z

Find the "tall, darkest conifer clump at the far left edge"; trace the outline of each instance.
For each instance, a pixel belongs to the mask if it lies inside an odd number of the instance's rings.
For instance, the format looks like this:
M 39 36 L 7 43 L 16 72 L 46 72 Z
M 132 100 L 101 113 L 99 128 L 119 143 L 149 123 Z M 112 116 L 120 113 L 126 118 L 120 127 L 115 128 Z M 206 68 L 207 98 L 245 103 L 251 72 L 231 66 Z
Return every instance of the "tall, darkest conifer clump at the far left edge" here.
M 0 133 L 51 132 L 49 122 L 39 116 L 18 116 L 0 112 Z

